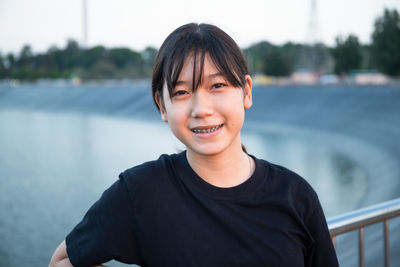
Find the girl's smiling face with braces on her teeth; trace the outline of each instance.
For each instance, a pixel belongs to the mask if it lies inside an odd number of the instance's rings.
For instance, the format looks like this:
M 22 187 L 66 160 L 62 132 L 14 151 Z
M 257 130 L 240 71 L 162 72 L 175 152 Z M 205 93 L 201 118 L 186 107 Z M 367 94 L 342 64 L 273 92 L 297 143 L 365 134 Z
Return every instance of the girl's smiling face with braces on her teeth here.
M 193 64 L 193 57 L 189 56 L 171 97 L 164 87 L 164 106 L 158 103 L 162 120 L 168 122 L 173 134 L 192 155 L 241 151 L 244 110 L 252 105 L 250 76 L 246 76 L 244 89 L 233 87 L 206 54 L 203 79 L 193 92 Z

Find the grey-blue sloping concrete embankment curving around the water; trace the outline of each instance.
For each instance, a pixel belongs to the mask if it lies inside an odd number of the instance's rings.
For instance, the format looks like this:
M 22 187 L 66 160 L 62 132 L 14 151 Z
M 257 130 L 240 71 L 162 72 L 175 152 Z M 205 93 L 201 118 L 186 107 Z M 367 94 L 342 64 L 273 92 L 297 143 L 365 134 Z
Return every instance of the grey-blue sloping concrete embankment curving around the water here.
M 255 87 L 247 129 L 279 125 L 341 151 L 368 175 L 357 208 L 400 197 L 400 87 Z M 0 87 L 0 109 L 95 113 L 159 120 L 149 86 Z M 4 127 L 4 126 L 2 126 Z M 400 266 L 400 221 L 391 223 L 392 265 Z M 366 229 L 369 266 L 382 265 L 380 226 Z M 353 235 L 338 240 L 341 266 L 357 260 Z M 353 241 L 351 241 L 354 239 Z

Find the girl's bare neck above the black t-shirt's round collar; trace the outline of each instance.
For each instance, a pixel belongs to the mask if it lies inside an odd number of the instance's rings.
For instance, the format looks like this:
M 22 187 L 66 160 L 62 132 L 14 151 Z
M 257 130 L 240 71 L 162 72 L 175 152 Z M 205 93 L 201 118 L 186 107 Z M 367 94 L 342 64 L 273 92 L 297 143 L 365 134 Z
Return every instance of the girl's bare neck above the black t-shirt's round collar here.
M 239 185 L 250 178 L 255 168 L 253 159 L 243 152 L 240 142 L 229 151 L 215 155 L 200 155 L 191 150 L 186 155 L 192 169 L 217 187 Z

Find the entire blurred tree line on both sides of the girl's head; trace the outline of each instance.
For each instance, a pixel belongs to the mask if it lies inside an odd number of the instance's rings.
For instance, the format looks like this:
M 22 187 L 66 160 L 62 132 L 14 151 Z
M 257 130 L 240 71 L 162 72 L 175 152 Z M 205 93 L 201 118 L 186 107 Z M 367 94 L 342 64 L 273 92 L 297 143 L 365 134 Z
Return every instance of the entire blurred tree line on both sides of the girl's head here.
M 297 69 L 347 75 L 356 69 L 376 69 L 389 76 L 400 76 L 400 16 L 385 9 L 374 23 L 371 44 L 361 44 L 357 36 L 338 36 L 334 47 L 322 43 L 292 42 L 274 45 L 259 42 L 244 49 L 251 73 L 288 76 Z M 19 55 L 0 53 L 0 79 L 40 78 L 121 79 L 151 77 L 157 49 L 141 52 L 128 48 L 95 46 L 82 48 L 68 40 L 64 49 L 51 47 L 43 54 L 32 53 L 25 45 Z

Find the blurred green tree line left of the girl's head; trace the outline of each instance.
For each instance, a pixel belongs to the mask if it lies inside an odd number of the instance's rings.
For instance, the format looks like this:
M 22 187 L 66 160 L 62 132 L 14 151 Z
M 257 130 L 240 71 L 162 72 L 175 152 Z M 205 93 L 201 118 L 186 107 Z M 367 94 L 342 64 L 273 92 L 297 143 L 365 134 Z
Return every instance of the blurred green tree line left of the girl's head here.
M 31 47 L 25 45 L 18 56 L 0 54 L 0 79 L 149 77 L 156 53 L 157 49 L 152 47 L 142 52 L 100 45 L 85 49 L 75 40 L 68 40 L 64 49 L 53 46 L 43 54 L 34 55 Z

